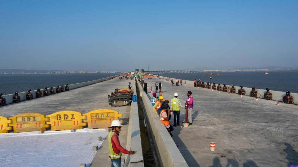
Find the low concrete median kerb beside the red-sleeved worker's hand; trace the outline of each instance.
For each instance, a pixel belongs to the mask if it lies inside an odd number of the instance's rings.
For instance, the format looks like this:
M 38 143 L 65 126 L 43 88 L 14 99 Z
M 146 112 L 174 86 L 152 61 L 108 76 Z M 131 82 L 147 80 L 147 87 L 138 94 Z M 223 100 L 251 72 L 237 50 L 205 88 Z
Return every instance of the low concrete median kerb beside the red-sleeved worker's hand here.
M 136 84 L 132 83 L 132 89 L 134 94 L 136 94 Z M 139 125 L 139 111 L 138 103 L 131 102 L 131 111 L 129 114 L 129 124 L 128 124 L 128 133 L 127 133 L 127 150 L 134 150 L 134 155 L 125 155 L 124 166 L 138 166 L 143 167 L 143 152 L 142 152 L 142 142 L 141 142 L 141 133 Z

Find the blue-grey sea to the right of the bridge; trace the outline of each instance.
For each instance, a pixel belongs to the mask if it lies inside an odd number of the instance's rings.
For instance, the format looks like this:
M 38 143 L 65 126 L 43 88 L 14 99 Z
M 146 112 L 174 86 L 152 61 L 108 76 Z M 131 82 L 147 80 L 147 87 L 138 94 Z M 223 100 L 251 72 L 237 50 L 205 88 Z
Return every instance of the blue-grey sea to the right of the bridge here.
M 226 85 L 235 85 L 243 87 L 255 87 L 257 89 L 266 89 L 282 91 L 286 90 L 298 93 L 298 71 L 269 71 L 265 72 L 222 72 L 220 75 L 203 75 L 203 73 L 174 73 L 161 74 L 170 78 L 181 78 L 182 80 L 198 80 L 220 83 Z

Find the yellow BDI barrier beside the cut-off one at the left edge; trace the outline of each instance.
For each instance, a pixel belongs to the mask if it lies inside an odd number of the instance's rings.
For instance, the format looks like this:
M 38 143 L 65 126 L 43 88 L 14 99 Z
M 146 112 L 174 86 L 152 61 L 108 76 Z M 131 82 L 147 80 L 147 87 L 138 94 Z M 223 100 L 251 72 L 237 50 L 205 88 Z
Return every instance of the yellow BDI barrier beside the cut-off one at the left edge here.
M 46 130 L 50 125 L 46 125 L 46 118 L 43 114 L 39 113 L 23 113 L 18 114 L 9 119 L 12 123 L 9 126 L 13 127 L 13 132 L 33 132 L 38 130 Z

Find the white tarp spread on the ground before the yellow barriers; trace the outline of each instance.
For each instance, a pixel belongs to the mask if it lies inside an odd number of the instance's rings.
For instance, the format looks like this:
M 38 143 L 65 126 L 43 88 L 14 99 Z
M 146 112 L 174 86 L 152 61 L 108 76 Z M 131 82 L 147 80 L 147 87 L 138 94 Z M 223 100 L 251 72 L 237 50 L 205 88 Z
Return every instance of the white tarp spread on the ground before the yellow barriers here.
M 103 141 L 97 138 L 107 135 L 105 129 L 0 133 L 0 166 L 89 166 L 96 154 L 92 146 L 99 148 Z

